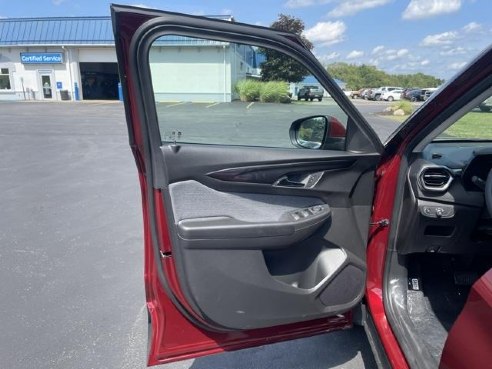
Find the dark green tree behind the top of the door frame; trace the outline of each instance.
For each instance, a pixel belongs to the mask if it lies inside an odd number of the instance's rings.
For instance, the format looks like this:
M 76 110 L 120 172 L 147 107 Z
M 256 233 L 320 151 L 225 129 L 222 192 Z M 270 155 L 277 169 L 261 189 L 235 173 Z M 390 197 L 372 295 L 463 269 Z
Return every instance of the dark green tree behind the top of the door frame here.
M 279 14 L 278 19 L 270 27 L 293 32 L 301 37 L 306 48 L 309 50 L 313 48 L 313 44 L 302 35 L 304 22 L 299 18 Z M 265 55 L 265 61 L 260 64 L 263 81 L 301 82 L 309 75 L 309 71 L 290 56 L 272 49 L 260 49 L 260 52 Z

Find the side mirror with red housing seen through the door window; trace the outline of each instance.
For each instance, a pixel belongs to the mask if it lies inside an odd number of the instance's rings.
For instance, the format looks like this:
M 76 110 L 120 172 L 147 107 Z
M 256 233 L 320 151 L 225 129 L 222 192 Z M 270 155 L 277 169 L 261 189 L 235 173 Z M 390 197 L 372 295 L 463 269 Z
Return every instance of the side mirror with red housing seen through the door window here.
M 347 131 L 342 123 L 330 115 L 301 118 L 290 126 L 292 144 L 304 149 L 345 150 Z

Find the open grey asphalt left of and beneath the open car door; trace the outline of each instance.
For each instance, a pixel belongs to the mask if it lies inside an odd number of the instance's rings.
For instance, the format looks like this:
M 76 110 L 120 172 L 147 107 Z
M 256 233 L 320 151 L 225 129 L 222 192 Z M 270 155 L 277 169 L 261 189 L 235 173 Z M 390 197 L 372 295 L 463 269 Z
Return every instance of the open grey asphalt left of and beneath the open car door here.
M 314 104 L 306 109 L 325 109 Z M 397 123 L 373 115 L 384 104 L 363 104 L 387 137 Z M 222 108 L 170 105 L 162 108 L 181 117 L 184 108 L 196 116 Z M 256 108 L 261 116 L 268 111 L 258 104 L 249 113 Z M 19 102 L 0 109 L 0 366 L 144 368 L 140 193 L 122 105 Z M 300 367 L 375 363 L 356 328 L 162 366 Z

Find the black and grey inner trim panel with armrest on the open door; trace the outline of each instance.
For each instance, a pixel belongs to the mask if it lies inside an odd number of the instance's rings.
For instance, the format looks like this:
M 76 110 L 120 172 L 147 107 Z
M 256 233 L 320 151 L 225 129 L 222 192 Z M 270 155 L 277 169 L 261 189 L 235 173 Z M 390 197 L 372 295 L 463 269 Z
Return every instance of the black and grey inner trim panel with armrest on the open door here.
M 180 286 L 212 328 L 318 319 L 360 301 L 378 155 L 187 144 L 161 152 L 176 180 L 163 192 Z M 193 170 L 180 170 L 187 162 Z M 320 178 L 275 185 L 298 173 Z

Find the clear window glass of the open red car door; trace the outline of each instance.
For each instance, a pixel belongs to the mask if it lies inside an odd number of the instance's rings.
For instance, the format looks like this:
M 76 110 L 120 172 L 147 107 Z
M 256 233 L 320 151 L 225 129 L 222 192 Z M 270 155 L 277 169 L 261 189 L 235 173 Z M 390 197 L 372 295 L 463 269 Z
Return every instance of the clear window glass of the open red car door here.
M 344 147 L 340 140 L 347 115 L 304 66 L 285 54 L 252 45 L 164 36 L 154 41 L 149 62 L 163 142 Z M 311 117 L 336 125 L 337 145 L 320 144 L 323 134 L 330 135 L 323 124 L 316 125 L 320 131 L 313 133 L 313 144 L 293 142 L 292 123 Z M 307 137 L 305 127 L 299 125 L 304 129 L 300 137 Z

